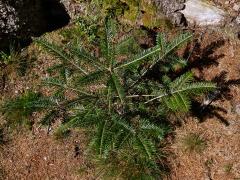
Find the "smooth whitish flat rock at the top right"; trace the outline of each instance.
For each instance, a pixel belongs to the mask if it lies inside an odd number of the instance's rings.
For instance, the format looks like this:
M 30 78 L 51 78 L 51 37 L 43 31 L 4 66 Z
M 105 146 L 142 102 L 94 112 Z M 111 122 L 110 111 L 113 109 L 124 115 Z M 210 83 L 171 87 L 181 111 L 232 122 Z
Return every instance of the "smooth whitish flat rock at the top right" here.
M 225 12 L 204 0 L 188 0 L 181 11 L 187 21 L 199 26 L 220 25 Z

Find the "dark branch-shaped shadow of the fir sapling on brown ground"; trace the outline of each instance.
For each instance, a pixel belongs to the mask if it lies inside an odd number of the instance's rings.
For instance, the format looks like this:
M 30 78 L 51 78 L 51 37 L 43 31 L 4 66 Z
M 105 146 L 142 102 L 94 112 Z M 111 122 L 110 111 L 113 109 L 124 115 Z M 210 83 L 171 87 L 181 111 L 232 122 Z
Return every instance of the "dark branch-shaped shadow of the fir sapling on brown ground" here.
M 197 69 L 199 76 L 195 77 L 195 79 L 198 81 L 205 80 L 203 70 L 219 65 L 219 60 L 224 57 L 224 54 L 215 55 L 214 52 L 224 46 L 224 44 L 225 41 L 219 39 L 203 48 L 201 40 L 195 39 L 192 43 L 188 44 L 183 53 L 183 58 L 188 59 L 188 65 L 175 74 L 171 72 L 171 74 L 173 74 L 171 75 L 172 78 L 192 69 Z M 204 122 L 209 118 L 215 117 L 224 125 L 229 126 L 228 120 L 224 117 L 224 114 L 227 114 L 227 110 L 213 105 L 213 102 L 218 100 L 231 100 L 231 87 L 239 85 L 240 79 L 227 80 L 227 72 L 222 71 L 210 81 L 216 83 L 218 88 L 205 96 L 203 102 L 199 102 L 199 100 L 196 99 L 193 100 L 191 115 L 197 117 L 199 122 Z

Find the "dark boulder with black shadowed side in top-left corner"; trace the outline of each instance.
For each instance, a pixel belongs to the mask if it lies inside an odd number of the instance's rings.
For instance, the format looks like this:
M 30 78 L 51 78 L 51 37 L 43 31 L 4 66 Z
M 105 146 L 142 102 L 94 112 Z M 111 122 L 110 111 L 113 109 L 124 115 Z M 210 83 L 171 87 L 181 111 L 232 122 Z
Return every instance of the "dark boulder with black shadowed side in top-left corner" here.
M 10 43 L 28 43 L 39 36 L 66 25 L 69 21 L 59 0 L 0 0 L 0 49 Z

